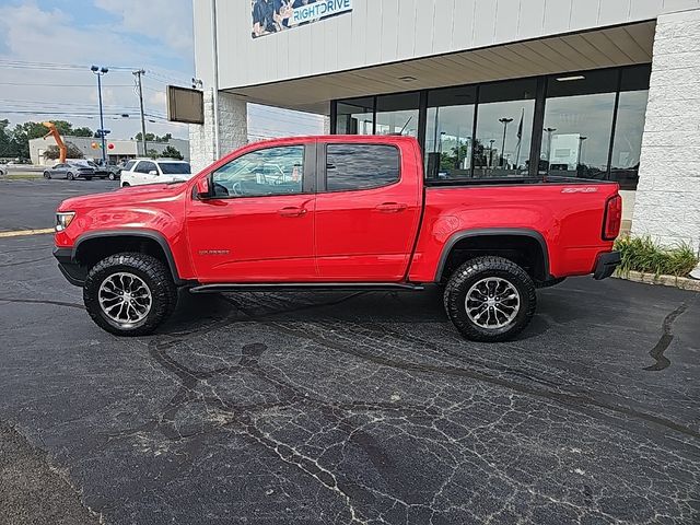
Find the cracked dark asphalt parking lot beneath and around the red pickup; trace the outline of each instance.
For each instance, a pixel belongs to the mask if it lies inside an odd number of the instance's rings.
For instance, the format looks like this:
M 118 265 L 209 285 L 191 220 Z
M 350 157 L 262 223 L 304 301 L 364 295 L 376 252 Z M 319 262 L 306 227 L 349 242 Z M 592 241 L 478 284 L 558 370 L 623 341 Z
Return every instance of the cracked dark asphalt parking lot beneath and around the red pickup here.
M 112 187 L 0 182 L 0 230 Z M 183 295 L 119 339 L 51 245 L 0 237 L 0 523 L 700 523 L 698 293 L 571 279 L 500 345 L 435 291 Z

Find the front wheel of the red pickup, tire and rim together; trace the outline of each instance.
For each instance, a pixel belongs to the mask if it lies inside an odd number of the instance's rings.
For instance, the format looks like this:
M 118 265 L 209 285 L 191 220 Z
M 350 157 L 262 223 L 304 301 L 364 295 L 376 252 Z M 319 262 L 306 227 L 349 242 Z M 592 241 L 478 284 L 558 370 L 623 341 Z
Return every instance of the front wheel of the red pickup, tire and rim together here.
M 83 301 L 90 317 L 117 336 L 151 334 L 175 310 L 177 288 L 167 267 L 139 253 L 112 255 L 88 273 Z

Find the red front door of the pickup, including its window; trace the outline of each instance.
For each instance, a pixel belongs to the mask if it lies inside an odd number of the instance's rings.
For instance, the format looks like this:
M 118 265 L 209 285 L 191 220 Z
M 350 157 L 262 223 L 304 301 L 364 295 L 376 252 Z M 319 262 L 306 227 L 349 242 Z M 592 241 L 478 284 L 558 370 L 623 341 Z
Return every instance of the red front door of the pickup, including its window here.
M 187 218 L 200 282 L 307 282 L 317 278 L 314 151 L 313 143 L 265 148 L 213 173 L 214 198 L 192 199 Z

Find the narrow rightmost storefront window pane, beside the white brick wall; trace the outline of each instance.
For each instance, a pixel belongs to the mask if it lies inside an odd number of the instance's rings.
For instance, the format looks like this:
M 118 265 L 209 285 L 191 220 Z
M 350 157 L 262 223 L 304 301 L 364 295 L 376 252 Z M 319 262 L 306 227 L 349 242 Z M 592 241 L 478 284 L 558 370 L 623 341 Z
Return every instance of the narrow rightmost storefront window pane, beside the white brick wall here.
M 649 66 L 622 70 L 610 166 L 610 179 L 617 180 L 622 189 L 637 189 L 639 180 L 650 74 Z

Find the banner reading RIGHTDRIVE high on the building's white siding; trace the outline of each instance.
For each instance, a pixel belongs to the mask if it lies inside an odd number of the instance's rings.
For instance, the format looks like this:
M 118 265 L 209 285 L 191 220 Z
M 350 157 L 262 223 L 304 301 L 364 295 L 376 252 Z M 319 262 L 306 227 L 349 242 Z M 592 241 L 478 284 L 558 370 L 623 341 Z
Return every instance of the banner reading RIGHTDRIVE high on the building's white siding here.
M 352 11 L 352 0 L 252 0 L 253 38 Z

